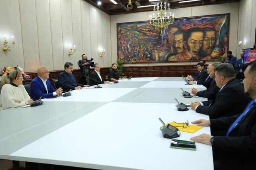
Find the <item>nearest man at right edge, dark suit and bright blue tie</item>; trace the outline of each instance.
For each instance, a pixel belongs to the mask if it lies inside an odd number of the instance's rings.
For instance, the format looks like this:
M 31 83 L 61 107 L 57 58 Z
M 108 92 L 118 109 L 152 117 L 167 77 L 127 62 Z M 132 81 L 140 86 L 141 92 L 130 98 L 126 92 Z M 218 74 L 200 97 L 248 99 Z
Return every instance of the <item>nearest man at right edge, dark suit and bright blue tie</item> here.
M 253 99 L 240 114 L 192 122 L 222 132 L 218 136 L 202 134 L 190 139 L 212 145 L 215 170 L 253 170 L 256 167 L 256 61 L 249 63 L 244 76 L 244 92 Z

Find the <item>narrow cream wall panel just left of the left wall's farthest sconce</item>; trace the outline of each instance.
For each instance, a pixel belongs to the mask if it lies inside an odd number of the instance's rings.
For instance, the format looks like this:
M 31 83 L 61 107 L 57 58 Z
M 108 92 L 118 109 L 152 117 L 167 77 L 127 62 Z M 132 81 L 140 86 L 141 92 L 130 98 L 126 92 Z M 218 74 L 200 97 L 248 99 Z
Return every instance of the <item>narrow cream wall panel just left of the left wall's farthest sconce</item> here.
M 89 5 L 90 11 L 90 42 L 91 42 L 91 57 L 97 62 L 98 42 L 97 42 L 97 12 L 96 8 Z

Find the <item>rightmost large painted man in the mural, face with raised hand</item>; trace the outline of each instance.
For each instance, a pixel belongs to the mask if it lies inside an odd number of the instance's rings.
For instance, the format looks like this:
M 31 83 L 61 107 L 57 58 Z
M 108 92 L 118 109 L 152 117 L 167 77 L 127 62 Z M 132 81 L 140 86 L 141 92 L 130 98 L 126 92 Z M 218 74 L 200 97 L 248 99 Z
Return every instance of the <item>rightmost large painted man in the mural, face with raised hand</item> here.
M 202 60 L 215 59 L 220 56 L 220 51 L 213 51 L 215 45 L 216 31 L 214 28 L 206 27 L 203 29 L 205 37 L 203 42 L 203 47 L 199 52 Z

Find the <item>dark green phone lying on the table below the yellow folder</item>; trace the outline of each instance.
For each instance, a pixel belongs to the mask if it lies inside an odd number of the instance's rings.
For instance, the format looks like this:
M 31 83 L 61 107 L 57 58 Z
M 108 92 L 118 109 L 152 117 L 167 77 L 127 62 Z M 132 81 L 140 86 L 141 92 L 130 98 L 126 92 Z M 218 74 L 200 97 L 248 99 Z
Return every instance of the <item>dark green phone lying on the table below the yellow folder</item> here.
M 187 149 L 187 150 L 197 150 L 195 142 L 187 141 L 187 140 L 171 140 L 171 148 L 177 149 Z

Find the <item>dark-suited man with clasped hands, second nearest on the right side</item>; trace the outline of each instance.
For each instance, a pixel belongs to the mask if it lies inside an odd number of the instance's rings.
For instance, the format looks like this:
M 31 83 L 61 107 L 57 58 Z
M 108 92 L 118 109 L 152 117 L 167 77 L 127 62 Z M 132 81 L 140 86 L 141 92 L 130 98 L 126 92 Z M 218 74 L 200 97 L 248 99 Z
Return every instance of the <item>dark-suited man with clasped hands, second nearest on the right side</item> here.
M 214 68 L 215 81 L 220 88 L 213 100 L 192 102 L 197 113 L 207 114 L 210 119 L 232 116 L 242 112 L 251 98 L 244 94 L 244 87 L 235 79 L 235 70 L 230 63 L 221 63 Z

